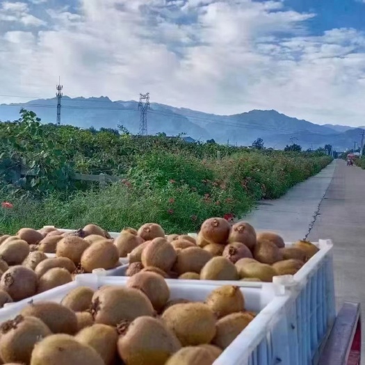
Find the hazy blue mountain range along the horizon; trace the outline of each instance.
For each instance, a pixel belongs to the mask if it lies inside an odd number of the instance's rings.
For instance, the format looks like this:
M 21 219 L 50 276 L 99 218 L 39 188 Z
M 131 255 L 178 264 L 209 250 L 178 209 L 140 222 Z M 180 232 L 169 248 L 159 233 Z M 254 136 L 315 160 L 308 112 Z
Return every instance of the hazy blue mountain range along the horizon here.
M 19 110 L 24 107 L 37 113 L 42 122 L 56 122 L 57 99 L 36 99 L 23 104 L 1 104 L 0 120 L 16 120 Z M 61 109 L 62 124 L 95 129 L 117 129 L 122 124 L 131 133 L 138 133 L 140 111 L 138 102 L 122 100 L 112 102 L 108 97 L 64 96 Z M 361 141 L 362 128 L 342 125 L 318 125 L 307 120 L 278 113 L 277 111 L 253 110 L 236 115 L 215 115 L 151 103 L 147 111 L 147 131 L 149 134 L 164 132 L 168 136 L 186 133 L 195 140 L 211 138 L 217 143 L 251 145 L 262 138 L 266 147 L 282 149 L 291 143 L 303 149 L 316 149 L 326 144 L 337 151 L 351 149 L 353 141 Z M 365 128 L 365 127 L 364 127 Z

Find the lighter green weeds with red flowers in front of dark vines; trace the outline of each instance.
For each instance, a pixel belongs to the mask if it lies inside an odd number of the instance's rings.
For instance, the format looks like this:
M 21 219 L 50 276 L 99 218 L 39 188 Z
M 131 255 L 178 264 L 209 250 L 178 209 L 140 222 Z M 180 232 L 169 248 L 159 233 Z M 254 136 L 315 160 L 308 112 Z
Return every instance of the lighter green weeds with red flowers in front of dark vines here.
M 149 152 L 136 158 L 126 180 L 104 190 L 76 191 L 65 198 L 0 192 L 0 234 L 43 225 L 79 228 L 88 223 L 119 232 L 158 222 L 171 233 L 195 232 L 209 217 L 241 217 L 254 202 L 275 199 L 321 171 L 331 159 L 305 154 L 237 153 L 221 161 L 188 153 Z

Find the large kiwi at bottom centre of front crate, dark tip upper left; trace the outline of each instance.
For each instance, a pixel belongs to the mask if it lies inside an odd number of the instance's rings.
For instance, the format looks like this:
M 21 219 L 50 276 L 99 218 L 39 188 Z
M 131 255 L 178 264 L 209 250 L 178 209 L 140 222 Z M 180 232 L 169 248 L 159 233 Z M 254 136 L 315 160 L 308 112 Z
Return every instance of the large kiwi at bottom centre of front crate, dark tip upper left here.
M 118 353 L 128 365 L 165 364 L 180 348 L 171 330 L 159 319 L 147 316 L 136 318 L 117 341 Z

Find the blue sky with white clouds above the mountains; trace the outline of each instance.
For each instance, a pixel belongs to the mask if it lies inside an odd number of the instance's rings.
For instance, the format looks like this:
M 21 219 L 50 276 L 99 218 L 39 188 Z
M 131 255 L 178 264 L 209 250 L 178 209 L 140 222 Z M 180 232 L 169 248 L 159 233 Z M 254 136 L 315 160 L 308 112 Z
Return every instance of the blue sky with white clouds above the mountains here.
M 365 0 L 0 0 L 0 103 L 108 96 L 365 124 Z

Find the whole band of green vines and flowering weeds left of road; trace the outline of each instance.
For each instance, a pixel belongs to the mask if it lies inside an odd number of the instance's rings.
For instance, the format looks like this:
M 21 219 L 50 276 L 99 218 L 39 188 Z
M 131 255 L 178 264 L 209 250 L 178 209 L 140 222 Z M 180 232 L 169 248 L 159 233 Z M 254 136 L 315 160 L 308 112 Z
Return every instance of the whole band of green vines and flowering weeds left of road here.
M 0 124 L 0 202 L 10 203 L 0 208 L 0 233 L 89 222 L 108 231 L 159 222 L 168 233 L 194 232 L 208 217 L 239 217 L 256 200 L 283 195 L 331 161 L 319 153 L 186 143 L 120 130 L 40 124 L 29 111 Z M 22 165 L 37 176 L 19 179 Z M 99 190 L 74 181 L 75 172 L 125 179 Z

